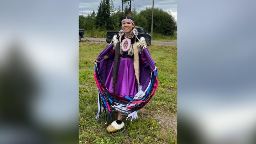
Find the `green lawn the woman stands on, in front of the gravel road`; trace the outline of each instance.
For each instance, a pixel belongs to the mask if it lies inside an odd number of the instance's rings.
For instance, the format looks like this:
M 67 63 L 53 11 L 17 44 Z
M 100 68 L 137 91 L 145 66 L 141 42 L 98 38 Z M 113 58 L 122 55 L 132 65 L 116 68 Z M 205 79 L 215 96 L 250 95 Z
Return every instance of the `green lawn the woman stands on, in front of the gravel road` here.
M 177 47 L 149 46 L 158 67 L 159 86 L 150 102 L 138 112 L 139 118 L 124 120 L 125 127 L 110 134 L 112 121 L 97 114 L 97 88 L 93 60 L 108 44 L 79 43 L 79 143 L 80 144 L 177 144 L 177 134 L 170 121 L 177 119 Z M 117 115 L 114 113 L 114 119 Z M 177 126 L 177 125 L 176 125 Z M 177 129 L 177 128 L 176 128 Z

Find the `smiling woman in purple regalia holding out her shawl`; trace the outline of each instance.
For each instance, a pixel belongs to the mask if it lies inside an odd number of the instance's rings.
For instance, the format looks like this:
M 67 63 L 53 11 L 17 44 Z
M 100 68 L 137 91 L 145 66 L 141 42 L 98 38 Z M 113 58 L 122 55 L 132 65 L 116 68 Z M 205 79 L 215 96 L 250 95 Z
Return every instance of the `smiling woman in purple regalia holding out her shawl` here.
M 95 80 L 98 87 L 98 114 L 118 112 L 116 121 L 107 131 L 124 127 L 123 117 L 137 118 L 137 112 L 154 95 L 157 86 L 157 68 L 147 50 L 144 37 L 138 35 L 132 17 L 122 20 L 122 30 L 113 37 L 95 62 Z

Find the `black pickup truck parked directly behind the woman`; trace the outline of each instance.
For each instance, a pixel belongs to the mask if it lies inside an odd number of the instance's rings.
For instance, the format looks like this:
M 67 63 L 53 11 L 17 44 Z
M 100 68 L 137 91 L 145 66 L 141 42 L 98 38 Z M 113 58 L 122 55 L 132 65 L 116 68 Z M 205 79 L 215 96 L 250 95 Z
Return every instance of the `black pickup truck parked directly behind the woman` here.
M 142 27 L 135 26 L 135 28 L 138 30 L 138 35 L 144 37 L 147 45 L 150 46 L 151 45 L 151 35 L 148 34 L 148 32 L 145 31 Z M 120 28 L 120 30 L 121 29 L 122 29 L 122 27 Z M 106 42 L 110 43 L 113 39 L 113 36 L 118 34 L 118 32 L 119 31 L 107 31 Z

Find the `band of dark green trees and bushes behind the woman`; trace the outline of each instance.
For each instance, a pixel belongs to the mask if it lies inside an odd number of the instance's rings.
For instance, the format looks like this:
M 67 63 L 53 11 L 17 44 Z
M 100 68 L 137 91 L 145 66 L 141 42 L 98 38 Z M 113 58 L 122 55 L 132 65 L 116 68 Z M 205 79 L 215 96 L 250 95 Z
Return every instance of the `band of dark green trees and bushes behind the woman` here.
M 128 5 L 125 5 L 122 10 L 120 6 L 114 10 L 113 1 L 114 0 L 101 0 L 97 13 L 93 10 L 85 17 L 79 16 L 79 28 L 85 30 L 95 30 L 99 28 L 99 31 L 119 31 L 121 20 L 124 16 L 127 16 Z M 132 0 L 122 1 L 129 2 L 130 6 Z M 136 10 L 134 7 L 132 9 L 132 17 L 136 26 L 141 26 L 146 31 L 151 31 L 152 8 L 146 8 L 139 12 L 139 10 Z M 170 11 L 154 8 L 153 29 L 157 33 L 171 35 L 175 30 L 177 31 L 177 21 Z

